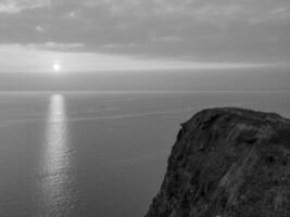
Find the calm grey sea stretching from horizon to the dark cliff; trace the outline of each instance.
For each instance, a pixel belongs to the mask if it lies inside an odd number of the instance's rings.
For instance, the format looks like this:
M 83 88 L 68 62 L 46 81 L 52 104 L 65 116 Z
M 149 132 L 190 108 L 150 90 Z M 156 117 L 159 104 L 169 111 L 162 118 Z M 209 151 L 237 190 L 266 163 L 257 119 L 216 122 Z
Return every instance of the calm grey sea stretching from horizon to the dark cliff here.
M 1 217 L 137 217 L 203 107 L 290 116 L 289 92 L 0 93 Z

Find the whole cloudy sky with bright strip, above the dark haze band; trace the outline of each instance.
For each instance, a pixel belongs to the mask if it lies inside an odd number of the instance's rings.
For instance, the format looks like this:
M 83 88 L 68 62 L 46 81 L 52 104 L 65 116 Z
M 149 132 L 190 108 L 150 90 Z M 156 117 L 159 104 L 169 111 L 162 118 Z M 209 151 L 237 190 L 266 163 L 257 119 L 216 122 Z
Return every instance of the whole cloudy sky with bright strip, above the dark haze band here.
M 289 0 L 0 0 L 0 72 L 285 66 Z

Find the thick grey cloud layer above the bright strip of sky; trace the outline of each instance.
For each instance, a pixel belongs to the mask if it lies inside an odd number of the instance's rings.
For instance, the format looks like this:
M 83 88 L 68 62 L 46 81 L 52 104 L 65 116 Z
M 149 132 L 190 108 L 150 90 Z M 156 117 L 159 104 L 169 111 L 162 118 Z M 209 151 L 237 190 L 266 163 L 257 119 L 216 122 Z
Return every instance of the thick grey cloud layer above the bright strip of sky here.
M 79 52 L 286 62 L 289 12 L 289 0 L 5 0 L 0 43 L 53 41 L 81 44 L 72 48 Z

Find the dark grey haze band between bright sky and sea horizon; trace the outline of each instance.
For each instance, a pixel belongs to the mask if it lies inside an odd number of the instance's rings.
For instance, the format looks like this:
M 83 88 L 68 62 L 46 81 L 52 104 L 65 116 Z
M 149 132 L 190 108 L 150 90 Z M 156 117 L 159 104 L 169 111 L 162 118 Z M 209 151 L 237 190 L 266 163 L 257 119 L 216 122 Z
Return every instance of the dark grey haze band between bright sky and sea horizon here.
M 1 73 L 0 91 L 289 91 L 289 69 Z

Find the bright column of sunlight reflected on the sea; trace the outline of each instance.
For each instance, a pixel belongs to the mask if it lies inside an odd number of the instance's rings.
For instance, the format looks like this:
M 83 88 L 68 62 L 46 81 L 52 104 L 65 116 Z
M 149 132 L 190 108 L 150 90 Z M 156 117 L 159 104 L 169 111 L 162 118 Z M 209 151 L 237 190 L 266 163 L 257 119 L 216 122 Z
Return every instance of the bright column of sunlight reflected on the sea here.
M 41 166 L 40 216 L 70 216 L 73 208 L 71 150 L 64 97 L 50 97 Z

